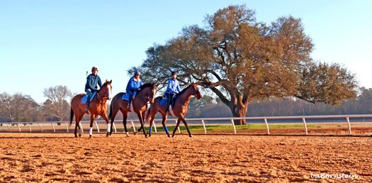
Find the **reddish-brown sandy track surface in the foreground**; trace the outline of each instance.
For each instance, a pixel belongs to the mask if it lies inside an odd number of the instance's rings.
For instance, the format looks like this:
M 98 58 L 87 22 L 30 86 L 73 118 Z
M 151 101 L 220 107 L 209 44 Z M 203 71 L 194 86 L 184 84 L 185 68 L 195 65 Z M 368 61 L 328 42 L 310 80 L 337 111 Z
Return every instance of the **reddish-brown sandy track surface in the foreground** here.
M 371 150 L 371 137 L 0 133 L 0 182 L 372 182 Z

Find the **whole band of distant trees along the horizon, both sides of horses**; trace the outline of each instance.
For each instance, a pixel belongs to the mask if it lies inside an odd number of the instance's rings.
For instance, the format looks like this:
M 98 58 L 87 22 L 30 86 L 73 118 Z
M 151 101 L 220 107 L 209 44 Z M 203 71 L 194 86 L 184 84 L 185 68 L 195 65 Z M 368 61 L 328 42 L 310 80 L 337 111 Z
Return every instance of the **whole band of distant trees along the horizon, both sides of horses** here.
M 23 94 L 0 94 L 0 121 L 69 121 L 69 102 L 60 102 L 63 110 L 53 110 L 58 105 L 47 99 L 43 104 L 36 103 L 30 96 Z M 270 99 L 253 101 L 249 104 L 247 116 L 309 116 L 337 114 L 367 114 L 372 113 L 372 89 L 361 88 L 356 99 L 344 101 L 339 106 L 323 103 L 309 103 L 300 99 Z M 210 96 L 201 100 L 192 99 L 188 108 L 187 118 L 230 117 L 230 109 Z M 136 118 L 130 114 L 129 118 Z M 89 119 L 86 115 L 85 119 Z M 122 119 L 121 114 L 116 121 Z

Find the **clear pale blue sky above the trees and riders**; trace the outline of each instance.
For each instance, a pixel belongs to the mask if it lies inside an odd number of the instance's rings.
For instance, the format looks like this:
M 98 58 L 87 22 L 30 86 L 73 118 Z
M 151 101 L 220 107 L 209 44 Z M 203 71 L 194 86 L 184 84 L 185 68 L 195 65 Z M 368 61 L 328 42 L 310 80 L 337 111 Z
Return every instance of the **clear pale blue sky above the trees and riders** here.
M 372 88 L 372 1 L 19 1 L 0 0 L 0 93 L 20 92 L 38 103 L 43 90 L 65 85 L 83 93 L 86 71 L 99 68 L 124 91 L 127 70 L 145 60 L 154 43 L 179 35 L 184 26 L 203 26 L 206 14 L 246 4 L 258 21 L 302 18 L 312 38 L 312 57 L 337 62 Z

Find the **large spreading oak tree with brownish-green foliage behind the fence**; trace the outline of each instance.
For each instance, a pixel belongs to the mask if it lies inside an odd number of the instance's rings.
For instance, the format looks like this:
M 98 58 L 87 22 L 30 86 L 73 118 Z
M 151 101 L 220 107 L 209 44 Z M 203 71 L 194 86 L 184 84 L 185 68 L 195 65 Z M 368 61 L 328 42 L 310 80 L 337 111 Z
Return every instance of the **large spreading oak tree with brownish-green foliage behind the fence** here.
M 355 97 L 354 74 L 337 63 L 315 62 L 312 49 L 300 18 L 266 25 L 246 6 L 228 6 L 205 16 L 205 27 L 188 26 L 165 45 L 152 46 L 129 72 L 141 70 L 145 80 L 166 84 L 176 71 L 181 83 L 201 82 L 237 117 L 246 116 L 250 101 L 273 96 L 327 104 Z

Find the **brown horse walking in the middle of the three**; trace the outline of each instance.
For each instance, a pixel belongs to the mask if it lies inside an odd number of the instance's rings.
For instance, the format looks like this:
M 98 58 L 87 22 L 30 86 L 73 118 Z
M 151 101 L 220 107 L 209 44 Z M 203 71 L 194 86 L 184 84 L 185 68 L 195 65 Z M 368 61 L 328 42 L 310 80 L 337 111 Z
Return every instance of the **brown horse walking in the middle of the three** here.
M 123 99 L 124 94 L 125 94 L 124 92 L 121 92 L 119 94 L 116 94 L 113 97 L 113 101 L 111 101 L 110 113 L 108 114 L 108 117 L 111 118 L 111 133 L 112 133 L 113 121 L 115 119 L 115 116 L 118 113 L 118 111 L 121 111 L 121 113 L 123 113 L 123 125 L 125 129 L 125 133 L 127 136 L 129 136 L 128 129 L 127 129 L 127 118 L 128 118 L 128 112 L 130 112 L 130 109 L 128 108 L 128 100 Z M 137 95 L 135 96 L 135 99 L 132 100 L 132 106 L 133 106 L 132 112 L 137 113 L 138 119 L 140 120 L 140 123 L 141 123 L 140 130 L 143 128 L 143 134 L 145 134 L 145 137 L 147 137 L 147 134 L 145 132 L 145 127 L 143 124 L 143 117 L 145 116 L 145 111 L 147 109 L 147 102 L 150 101 L 150 103 L 153 103 L 155 94 L 157 94 L 156 84 L 154 83 L 142 84 L 142 86 L 140 87 L 140 91 L 137 91 Z

